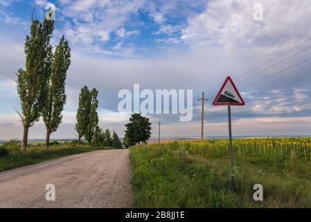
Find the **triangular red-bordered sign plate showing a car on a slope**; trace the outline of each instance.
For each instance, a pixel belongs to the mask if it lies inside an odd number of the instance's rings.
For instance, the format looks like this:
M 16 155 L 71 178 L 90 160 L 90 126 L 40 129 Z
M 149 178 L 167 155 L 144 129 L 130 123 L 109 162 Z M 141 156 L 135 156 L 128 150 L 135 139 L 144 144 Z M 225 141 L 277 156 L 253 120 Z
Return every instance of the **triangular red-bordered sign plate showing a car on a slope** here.
M 224 81 L 224 85 L 218 92 L 213 105 L 245 105 L 230 77 L 227 77 Z

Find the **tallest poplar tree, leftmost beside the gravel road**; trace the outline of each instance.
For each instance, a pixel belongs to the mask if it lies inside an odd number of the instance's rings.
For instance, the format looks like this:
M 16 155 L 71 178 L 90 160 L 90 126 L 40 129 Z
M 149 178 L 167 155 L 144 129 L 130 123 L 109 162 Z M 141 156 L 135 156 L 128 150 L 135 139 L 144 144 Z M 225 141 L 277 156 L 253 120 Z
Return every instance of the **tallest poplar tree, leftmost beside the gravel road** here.
M 20 68 L 17 71 L 17 92 L 21 100 L 21 112 L 17 113 L 24 126 L 21 151 L 26 151 L 28 129 L 39 121 L 48 92 L 47 83 L 53 59 L 53 47 L 50 44 L 53 29 L 53 21 L 44 19 L 43 22 L 39 22 L 33 19 L 30 35 L 26 35 L 25 69 Z

